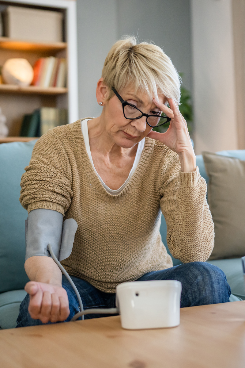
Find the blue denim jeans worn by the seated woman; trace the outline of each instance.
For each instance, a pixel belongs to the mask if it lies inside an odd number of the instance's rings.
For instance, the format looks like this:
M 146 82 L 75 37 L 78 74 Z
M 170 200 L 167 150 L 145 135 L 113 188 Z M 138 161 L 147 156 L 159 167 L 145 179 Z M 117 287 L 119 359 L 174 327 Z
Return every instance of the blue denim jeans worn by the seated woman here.
M 89 308 L 115 308 L 116 294 L 104 293 L 96 289 L 89 282 L 72 276 L 82 298 L 83 307 Z M 148 272 L 137 281 L 146 280 L 179 280 L 182 284 L 181 308 L 194 305 L 225 303 L 231 294 L 224 272 L 216 266 L 205 262 L 191 262 L 167 268 L 161 271 Z M 79 311 L 76 294 L 66 277 L 62 276 L 62 286 L 69 298 L 70 315 L 66 321 Z M 22 301 L 17 318 L 17 327 L 42 325 L 40 319 L 32 319 L 28 312 L 29 295 Z M 105 314 L 85 315 L 85 319 L 105 317 Z M 65 322 L 66 322 L 65 321 Z M 48 322 L 51 323 L 51 322 Z M 60 322 L 56 322 L 60 323 Z

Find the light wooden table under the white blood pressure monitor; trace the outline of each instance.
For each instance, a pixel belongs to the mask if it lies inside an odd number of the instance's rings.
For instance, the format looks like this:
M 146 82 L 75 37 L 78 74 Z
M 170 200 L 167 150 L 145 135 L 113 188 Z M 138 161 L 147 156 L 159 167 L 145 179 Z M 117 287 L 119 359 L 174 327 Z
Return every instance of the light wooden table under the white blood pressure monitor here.
M 181 309 L 180 326 L 123 330 L 120 317 L 0 331 L 1 368 L 244 368 L 245 301 Z

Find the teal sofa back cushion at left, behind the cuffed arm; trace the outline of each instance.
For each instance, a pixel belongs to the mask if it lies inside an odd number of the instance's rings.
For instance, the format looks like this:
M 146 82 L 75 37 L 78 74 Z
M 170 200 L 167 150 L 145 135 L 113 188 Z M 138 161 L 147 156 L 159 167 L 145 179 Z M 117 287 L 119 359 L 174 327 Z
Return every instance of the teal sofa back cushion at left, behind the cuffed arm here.
M 21 176 L 35 141 L 0 144 L 0 293 L 24 289 L 25 219 L 19 202 Z

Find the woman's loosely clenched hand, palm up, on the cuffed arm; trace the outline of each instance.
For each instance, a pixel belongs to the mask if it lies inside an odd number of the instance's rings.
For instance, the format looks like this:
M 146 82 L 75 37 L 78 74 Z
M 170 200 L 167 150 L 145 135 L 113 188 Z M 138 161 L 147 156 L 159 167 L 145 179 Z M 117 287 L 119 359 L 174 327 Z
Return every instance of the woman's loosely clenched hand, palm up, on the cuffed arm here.
M 29 281 L 25 291 L 30 295 L 28 311 L 43 323 L 65 321 L 70 314 L 66 290 L 55 284 Z

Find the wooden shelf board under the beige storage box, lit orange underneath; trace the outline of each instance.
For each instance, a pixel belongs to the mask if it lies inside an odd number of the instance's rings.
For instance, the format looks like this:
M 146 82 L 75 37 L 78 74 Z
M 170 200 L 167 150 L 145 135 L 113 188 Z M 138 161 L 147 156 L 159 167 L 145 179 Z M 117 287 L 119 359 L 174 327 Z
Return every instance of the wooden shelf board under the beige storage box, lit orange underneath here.
M 66 49 L 66 47 L 66 42 L 31 42 L 25 40 L 13 40 L 8 37 L 0 37 L 0 49 L 6 50 L 58 52 Z

